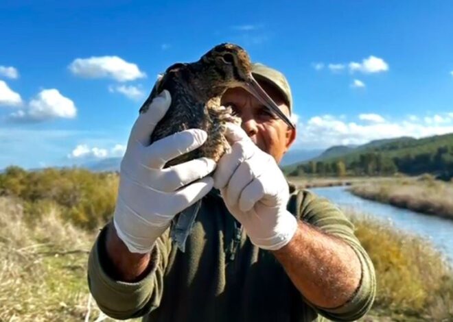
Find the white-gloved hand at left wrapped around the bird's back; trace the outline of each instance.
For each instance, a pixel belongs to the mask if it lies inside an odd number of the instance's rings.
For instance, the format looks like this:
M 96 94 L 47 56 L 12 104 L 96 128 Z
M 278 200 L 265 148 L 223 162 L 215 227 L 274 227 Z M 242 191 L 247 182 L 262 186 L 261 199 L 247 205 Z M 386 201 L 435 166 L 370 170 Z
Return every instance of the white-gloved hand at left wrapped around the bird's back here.
M 153 99 L 148 111 L 132 127 L 121 161 L 120 182 L 113 222 L 132 253 L 148 253 L 173 217 L 204 197 L 213 186 L 207 177 L 216 162 L 199 158 L 163 169 L 169 160 L 192 151 L 207 133 L 187 129 L 150 144 L 156 124 L 170 107 L 170 92 Z

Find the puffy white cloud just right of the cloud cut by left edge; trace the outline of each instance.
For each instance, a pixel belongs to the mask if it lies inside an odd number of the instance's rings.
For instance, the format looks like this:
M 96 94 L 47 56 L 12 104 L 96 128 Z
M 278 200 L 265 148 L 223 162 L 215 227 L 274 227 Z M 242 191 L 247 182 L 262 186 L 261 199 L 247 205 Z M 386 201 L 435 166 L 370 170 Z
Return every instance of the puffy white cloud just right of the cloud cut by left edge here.
M 14 121 L 39 122 L 49 119 L 73 119 L 77 115 L 74 102 L 55 88 L 41 90 L 26 110 L 10 114 Z

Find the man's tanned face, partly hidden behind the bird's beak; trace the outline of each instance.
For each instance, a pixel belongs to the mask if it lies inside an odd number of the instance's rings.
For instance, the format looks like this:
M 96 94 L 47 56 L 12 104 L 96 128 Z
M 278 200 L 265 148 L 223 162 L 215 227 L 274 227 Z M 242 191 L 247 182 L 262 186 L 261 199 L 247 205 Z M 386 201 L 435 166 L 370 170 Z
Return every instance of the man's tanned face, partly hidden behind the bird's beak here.
M 290 111 L 279 91 L 270 84 L 259 82 L 268 95 L 277 103 L 280 110 L 289 116 Z M 222 97 L 223 106 L 231 106 L 242 119 L 242 129 L 250 136 L 255 145 L 269 153 L 280 162 L 288 150 L 296 130 L 291 129 L 278 116 L 273 116 L 260 101 L 244 88 L 230 88 Z

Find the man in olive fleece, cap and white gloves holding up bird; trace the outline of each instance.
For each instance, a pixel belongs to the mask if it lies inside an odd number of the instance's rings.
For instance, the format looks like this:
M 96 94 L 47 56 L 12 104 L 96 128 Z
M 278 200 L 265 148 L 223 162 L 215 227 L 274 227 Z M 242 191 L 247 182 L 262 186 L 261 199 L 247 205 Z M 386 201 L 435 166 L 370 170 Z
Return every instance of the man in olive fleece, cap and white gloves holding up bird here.
M 253 74 L 290 115 L 286 78 L 261 64 Z M 277 162 L 296 133 L 242 88 L 228 90 L 242 126 L 231 151 L 163 165 L 206 140 L 189 129 L 149 145 L 170 106 L 164 91 L 141 114 L 121 162 L 113 223 L 89 258 L 89 286 L 106 314 L 144 321 L 351 321 L 373 303 L 373 265 L 353 227 L 329 201 L 288 186 Z M 214 187 L 214 188 L 213 188 Z M 202 199 L 185 253 L 170 223 Z

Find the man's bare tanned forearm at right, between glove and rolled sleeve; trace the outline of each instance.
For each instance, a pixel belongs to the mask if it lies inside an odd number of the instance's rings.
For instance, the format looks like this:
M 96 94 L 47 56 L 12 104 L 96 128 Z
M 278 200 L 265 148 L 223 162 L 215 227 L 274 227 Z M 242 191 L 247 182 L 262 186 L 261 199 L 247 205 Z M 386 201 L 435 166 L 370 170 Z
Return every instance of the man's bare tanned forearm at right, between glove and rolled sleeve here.
M 360 284 L 362 272 L 355 251 L 307 223 L 299 221 L 290 243 L 273 253 L 294 286 L 321 308 L 345 304 Z

